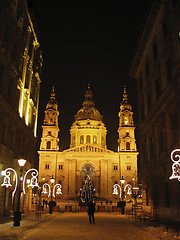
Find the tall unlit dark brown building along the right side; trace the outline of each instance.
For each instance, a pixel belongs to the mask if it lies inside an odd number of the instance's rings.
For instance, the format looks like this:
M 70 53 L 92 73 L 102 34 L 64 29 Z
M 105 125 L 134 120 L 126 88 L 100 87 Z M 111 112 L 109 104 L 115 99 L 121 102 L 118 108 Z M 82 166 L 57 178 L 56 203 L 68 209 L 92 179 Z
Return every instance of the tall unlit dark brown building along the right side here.
M 143 205 L 161 217 L 180 217 L 180 182 L 169 179 L 171 152 L 180 148 L 179 13 L 180 1 L 151 1 L 130 70 L 137 80 Z

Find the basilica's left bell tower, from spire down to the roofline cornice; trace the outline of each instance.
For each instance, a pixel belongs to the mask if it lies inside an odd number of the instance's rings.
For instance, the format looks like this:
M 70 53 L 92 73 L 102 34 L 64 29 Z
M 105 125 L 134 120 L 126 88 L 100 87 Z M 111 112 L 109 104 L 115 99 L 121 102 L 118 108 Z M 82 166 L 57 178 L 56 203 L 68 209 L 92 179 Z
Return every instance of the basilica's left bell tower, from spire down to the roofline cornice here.
M 44 111 L 44 123 L 42 126 L 42 138 L 40 144 L 40 150 L 46 151 L 57 151 L 59 150 L 59 127 L 58 127 L 58 105 L 55 99 L 54 86 L 52 87 L 52 92 L 50 99 L 46 105 L 46 110 Z

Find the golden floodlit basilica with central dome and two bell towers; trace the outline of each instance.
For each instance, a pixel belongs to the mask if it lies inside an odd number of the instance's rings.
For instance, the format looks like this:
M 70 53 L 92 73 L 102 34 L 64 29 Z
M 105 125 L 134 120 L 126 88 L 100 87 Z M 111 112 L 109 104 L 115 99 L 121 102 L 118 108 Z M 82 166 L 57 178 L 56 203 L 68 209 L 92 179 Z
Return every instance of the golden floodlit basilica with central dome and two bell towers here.
M 107 130 L 103 117 L 95 108 L 93 93 L 88 85 L 82 108 L 75 115 L 70 134 L 70 148 L 59 151 L 58 105 L 54 88 L 46 105 L 39 150 L 39 180 L 49 182 L 55 178 L 62 185 L 63 200 L 75 200 L 87 175 L 90 176 L 96 197 L 113 200 L 113 185 L 137 184 L 137 149 L 133 112 L 128 104 L 126 88 L 119 112 L 118 152 L 106 145 Z M 50 182 L 49 182 L 50 183 Z M 56 199 L 57 200 L 57 199 Z

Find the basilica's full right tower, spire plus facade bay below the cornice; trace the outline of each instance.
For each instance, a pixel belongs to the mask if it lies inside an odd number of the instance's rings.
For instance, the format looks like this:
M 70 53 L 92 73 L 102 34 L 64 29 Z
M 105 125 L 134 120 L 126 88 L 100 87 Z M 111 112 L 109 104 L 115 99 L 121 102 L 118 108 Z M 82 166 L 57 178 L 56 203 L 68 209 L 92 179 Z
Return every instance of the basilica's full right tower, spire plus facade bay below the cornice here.
M 124 176 L 126 183 L 131 186 L 137 186 L 137 156 L 139 153 L 136 148 L 133 111 L 128 103 L 126 87 L 124 87 L 123 101 L 120 105 L 118 133 L 120 176 Z

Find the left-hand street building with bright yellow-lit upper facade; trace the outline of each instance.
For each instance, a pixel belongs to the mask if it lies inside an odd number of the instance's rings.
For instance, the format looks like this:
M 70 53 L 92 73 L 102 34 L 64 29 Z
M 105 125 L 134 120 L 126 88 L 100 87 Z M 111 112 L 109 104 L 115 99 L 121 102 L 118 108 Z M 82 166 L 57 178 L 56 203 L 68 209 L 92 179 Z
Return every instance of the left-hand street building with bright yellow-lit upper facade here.
M 42 55 L 27 0 L 0 1 L 0 171 L 34 166 Z M 3 176 L 0 178 L 0 184 Z M 0 217 L 12 210 L 12 189 L 0 188 Z M 23 201 L 22 201 L 23 202 Z M 25 202 L 25 201 L 24 201 Z M 28 201 L 24 208 L 28 210 Z

